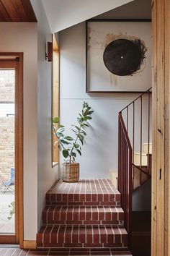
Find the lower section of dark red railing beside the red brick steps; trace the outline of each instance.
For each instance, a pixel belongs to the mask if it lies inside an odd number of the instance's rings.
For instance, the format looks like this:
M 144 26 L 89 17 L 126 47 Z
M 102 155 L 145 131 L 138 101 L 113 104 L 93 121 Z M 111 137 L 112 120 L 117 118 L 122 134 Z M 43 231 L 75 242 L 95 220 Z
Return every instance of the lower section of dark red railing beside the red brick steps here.
M 122 119 L 122 113 L 119 113 L 118 142 L 118 189 L 121 194 L 121 206 L 125 214 L 124 223 L 125 229 L 128 231 L 128 246 L 130 247 L 133 192 L 133 149 L 130 144 L 125 123 Z

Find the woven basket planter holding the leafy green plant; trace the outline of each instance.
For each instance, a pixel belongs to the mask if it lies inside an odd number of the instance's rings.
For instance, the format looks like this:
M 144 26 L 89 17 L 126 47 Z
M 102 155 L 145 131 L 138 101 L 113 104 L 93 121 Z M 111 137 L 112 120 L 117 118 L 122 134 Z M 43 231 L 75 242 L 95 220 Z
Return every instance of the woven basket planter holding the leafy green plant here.
M 63 163 L 63 182 L 79 182 L 79 163 Z

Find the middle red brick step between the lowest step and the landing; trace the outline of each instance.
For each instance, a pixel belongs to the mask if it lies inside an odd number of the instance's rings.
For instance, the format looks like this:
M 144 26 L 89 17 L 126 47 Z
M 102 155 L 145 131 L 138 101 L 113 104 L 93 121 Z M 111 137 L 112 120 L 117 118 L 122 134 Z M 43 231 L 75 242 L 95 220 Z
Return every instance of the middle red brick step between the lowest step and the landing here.
M 120 207 L 48 205 L 42 211 L 42 223 L 123 225 L 124 213 Z

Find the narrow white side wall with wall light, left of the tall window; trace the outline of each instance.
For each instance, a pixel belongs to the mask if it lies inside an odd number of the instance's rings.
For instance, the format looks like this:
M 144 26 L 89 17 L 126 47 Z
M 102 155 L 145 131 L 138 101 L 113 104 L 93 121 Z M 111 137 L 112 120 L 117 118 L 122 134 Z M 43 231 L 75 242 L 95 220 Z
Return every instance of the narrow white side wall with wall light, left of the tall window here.
M 51 78 L 52 63 L 45 61 L 45 43 L 52 41 L 42 1 L 32 0 L 37 17 L 37 229 L 40 229 L 45 194 L 58 178 L 51 167 Z

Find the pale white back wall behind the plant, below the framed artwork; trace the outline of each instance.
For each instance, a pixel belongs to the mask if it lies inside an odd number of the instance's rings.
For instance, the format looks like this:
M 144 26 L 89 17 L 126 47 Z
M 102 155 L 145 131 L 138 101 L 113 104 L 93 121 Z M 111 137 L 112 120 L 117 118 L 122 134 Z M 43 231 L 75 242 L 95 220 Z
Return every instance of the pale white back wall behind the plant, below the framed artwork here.
M 80 162 L 81 178 L 107 177 L 117 169 L 117 114 L 138 94 L 88 95 L 85 92 L 85 23 L 59 33 L 61 49 L 61 124 L 71 127 L 83 101 L 94 109 Z M 62 160 L 62 158 L 61 158 Z

